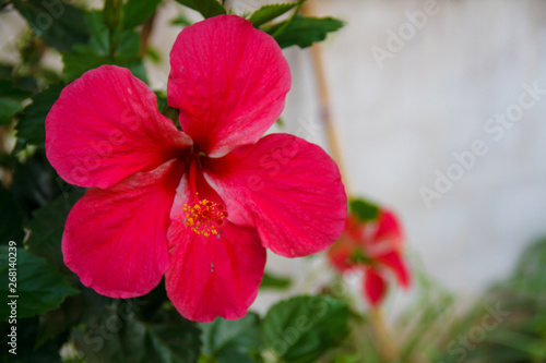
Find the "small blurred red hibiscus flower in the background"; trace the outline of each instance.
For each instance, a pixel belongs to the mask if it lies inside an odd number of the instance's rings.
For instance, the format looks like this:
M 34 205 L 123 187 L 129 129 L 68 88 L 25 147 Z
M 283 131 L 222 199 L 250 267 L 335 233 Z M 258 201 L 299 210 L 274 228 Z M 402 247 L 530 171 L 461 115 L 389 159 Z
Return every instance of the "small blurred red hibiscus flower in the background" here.
M 385 274 L 393 273 L 402 287 L 410 286 L 402 243 L 402 229 L 391 211 L 379 210 L 377 219 L 371 221 L 360 221 L 349 213 L 343 234 L 330 247 L 328 257 L 341 273 L 364 270 L 364 295 L 377 306 L 387 292 Z

